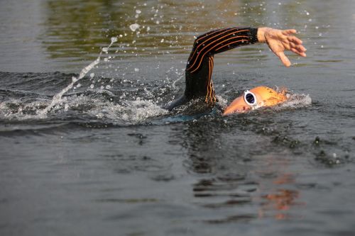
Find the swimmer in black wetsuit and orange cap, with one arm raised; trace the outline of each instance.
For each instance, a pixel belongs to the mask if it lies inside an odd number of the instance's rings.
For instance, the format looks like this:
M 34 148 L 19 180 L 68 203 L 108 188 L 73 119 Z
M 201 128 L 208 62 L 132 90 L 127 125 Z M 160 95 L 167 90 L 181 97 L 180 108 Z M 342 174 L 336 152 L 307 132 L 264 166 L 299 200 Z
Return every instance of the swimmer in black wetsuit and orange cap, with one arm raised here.
M 306 57 L 302 41 L 295 37 L 296 30 L 278 30 L 273 28 L 234 27 L 212 30 L 198 36 L 192 47 L 185 69 L 185 92 L 167 107 L 173 108 L 187 103 L 191 99 L 204 99 L 206 103 L 216 103 L 217 98 L 212 82 L 213 57 L 215 54 L 225 52 L 236 47 L 254 43 L 267 43 L 268 47 L 278 56 L 285 65 L 291 63 L 285 56 L 285 50 L 290 50 L 301 57 Z M 244 91 L 224 110 L 223 115 L 230 113 L 243 113 L 261 106 L 273 106 L 286 101 L 285 93 L 258 86 Z

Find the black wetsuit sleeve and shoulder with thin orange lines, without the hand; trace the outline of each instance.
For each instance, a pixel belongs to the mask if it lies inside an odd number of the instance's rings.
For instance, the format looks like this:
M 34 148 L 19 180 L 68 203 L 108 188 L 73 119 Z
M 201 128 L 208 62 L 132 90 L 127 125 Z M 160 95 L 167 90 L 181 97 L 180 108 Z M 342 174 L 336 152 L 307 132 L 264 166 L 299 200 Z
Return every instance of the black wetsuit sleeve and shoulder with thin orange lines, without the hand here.
M 195 40 L 185 69 L 185 93 L 169 104 L 171 111 L 191 99 L 204 98 L 207 103 L 217 101 L 212 83 L 213 57 L 241 45 L 258 42 L 258 28 L 223 28 L 200 35 Z

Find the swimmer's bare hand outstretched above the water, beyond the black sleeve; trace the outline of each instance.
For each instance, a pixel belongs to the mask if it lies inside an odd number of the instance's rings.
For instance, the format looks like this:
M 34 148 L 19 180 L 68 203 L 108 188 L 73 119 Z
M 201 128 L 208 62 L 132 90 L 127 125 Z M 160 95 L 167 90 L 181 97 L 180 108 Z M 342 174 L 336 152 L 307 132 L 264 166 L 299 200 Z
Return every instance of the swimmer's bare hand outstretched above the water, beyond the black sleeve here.
M 267 43 L 268 47 L 278 56 L 285 64 L 285 67 L 290 67 L 291 62 L 285 56 L 284 51 L 290 50 L 301 57 L 306 57 L 305 51 L 307 50 L 302 45 L 302 41 L 294 36 L 296 30 L 276 30 L 273 28 L 258 28 L 258 41 L 260 43 Z

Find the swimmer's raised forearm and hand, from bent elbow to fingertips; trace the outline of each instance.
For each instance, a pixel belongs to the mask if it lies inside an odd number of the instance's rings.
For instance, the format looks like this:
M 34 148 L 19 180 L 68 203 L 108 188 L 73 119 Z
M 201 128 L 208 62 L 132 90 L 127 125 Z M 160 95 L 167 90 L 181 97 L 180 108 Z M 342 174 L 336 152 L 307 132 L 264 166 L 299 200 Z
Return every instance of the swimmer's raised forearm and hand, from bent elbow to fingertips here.
M 267 43 L 268 47 L 285 64 L 290 67 L 290 60 L 285 56 L 284 51 L 290 50 L 297 55 L 305 57 L 305 47 L 302 41 L 293 34 L 296 30 L 277 30 L 273 28 L 223 28 L 212 30 L 200 35 L 195 40 L 189 60 L 187 61 L 187 72 L 197 72 L 200 69 L 204 57 L 225 52 L 233 48 L 253 43 Z

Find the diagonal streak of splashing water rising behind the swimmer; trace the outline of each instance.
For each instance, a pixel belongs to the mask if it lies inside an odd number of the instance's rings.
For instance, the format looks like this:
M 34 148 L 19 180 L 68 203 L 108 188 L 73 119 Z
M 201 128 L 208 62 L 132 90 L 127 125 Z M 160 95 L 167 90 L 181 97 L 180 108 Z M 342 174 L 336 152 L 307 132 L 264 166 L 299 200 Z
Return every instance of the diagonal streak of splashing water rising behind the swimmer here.
M 111 37 L 111 43 L 109 44 L 108 47 L 103 47 L 99 57 L 97 57 L 96 60 L 94 60 L 94 62 L 90 63 L 89 65 L 87 65 L 87 67 L 84 67 L 82 69 L 82 71 L 79 74 L 79 77 L 72 77 L 72 82 L 65 88 L 62 89 L 62 91 L 60 91 L 58 94 L 55 94 L 55 96 L 53 96 L 52 102 L 43 110 L 41 111 L 37 111 L 37 115 L 40 116 L 40 118 L 45 118 L 45 116 L 47 115 L 47 113 L 57 104 L 62 102 L 62 96 L 69 91 L 70 89 L 72 89 L 72 87 L 74 86 L 74 84 L 76 82 L 78 82 L 80 79 L 82 79 L 85 75 L 87 75 L 87 73 L 89 73 L 90 70 L 92 70 L 92 68 L 94 68 L 97 64 L 99 64 L 100 60 L 101 60 L 101 56 L 103 52 L 108 52 L 109 51 L 109 47 L 111 47 L 111 45 L 113 45 L 114 43 L 117 42 L 117 38 L 116 37 Z

